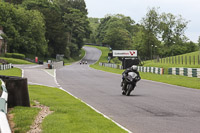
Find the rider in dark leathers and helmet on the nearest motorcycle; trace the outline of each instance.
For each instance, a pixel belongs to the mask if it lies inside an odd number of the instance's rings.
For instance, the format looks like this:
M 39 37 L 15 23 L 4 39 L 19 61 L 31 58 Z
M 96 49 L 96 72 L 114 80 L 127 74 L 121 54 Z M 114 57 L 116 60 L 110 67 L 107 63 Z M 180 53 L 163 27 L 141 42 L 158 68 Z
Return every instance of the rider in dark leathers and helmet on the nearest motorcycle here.
M 127 68 L 123 73 L 122 73 L 122 82 L 121 82 L 121 87 L 123 86 L 122 90 L 126 89 L 127 83 L 125 82 L 126 76 L 128 76 L 129 72 L 135 72 L 137 74 L 136 82 L 141 79 L 139 72 L 137 71 L 137 66 L 133 65 L 129 68 Z

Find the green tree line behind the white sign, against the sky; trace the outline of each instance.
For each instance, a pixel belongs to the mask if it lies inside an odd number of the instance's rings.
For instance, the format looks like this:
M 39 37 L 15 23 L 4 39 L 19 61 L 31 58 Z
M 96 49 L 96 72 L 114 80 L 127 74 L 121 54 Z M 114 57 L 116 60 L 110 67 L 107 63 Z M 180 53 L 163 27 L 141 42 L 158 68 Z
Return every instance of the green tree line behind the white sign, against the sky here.
M 181 15 L 159 13 L 148 9 L 140 23 L 123 14 L 89 18 L 92 27 L 90 43 L 109 45 L 112 49 L 136 49 L 142 59 L 167 57 L 198 50 L 185 36 L 189 21 Z

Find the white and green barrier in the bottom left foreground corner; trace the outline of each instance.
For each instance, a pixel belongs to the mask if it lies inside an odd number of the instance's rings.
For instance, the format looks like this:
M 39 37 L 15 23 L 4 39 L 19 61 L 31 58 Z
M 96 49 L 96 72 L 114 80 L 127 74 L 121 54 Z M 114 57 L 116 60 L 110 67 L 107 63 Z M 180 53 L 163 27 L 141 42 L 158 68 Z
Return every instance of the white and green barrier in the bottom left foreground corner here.
M 5 83 L 1 81 L 1 89 L 2 95 L 0 97 L 0 133 L 11 133 L 10 126 L 8 124 L 7 119 L 7 100 L 8 100 L 8 92 L 5 86 Z

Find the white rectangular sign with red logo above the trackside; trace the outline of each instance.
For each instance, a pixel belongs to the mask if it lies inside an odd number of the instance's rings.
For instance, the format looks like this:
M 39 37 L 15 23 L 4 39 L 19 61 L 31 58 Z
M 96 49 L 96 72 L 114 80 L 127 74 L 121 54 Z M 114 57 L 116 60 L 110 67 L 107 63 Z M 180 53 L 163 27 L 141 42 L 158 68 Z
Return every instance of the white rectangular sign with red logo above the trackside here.
M 137 50 L 113 50 L 114 57 L 137 57 Z

